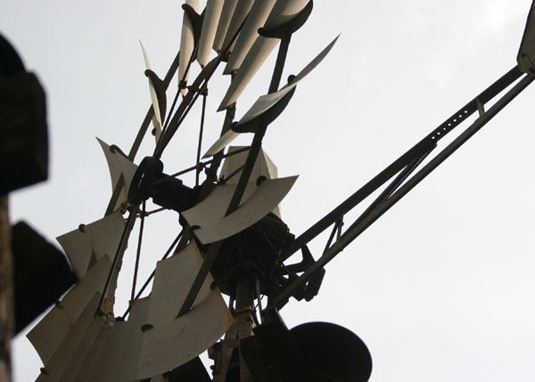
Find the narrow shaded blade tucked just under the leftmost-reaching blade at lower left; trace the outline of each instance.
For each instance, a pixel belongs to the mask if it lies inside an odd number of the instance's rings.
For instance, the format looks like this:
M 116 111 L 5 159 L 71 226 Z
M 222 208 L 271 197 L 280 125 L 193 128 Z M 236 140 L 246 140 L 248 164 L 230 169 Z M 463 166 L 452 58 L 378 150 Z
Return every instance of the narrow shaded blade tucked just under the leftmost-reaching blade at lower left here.
M 45 368 L 41 369 L 37 382 L 60 380 L 63 371 L 68 367 L 90 326 L 95 325 L 95 320 L 103 321 L 100 317 L 95 318 L 95 310 L 100 297 L 100 293 L 94 293 L 94 296 L 90 299 L 78 319 L 72 322 L 69 334 L 62 338 L 62 342 L 54 350 L 50 360 L 45 362 Z M 97 322 L 97 324 L 102 325 L 101 322 Z

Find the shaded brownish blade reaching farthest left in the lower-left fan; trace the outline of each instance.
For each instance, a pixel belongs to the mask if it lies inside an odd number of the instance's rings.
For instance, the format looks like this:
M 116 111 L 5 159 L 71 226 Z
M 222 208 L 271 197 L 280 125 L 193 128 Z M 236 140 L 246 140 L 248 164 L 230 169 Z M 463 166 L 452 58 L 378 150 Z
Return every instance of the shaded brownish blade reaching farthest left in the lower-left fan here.
M 70 328 L 78 321 L 95 292 L 102 293 L 104 281 L 111 268 L 111 261 L 104 256 L 86 276 L 78 281 L 45 317 L 27 335 L 44 364 L 50 362 L 62 340 L 68 337 Z M 96 306 L 95 306 L 96 309 Z M 95 309 L 91 315 L 95 313 Z

